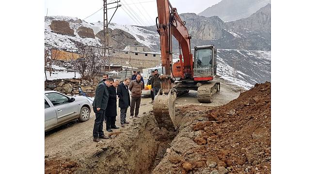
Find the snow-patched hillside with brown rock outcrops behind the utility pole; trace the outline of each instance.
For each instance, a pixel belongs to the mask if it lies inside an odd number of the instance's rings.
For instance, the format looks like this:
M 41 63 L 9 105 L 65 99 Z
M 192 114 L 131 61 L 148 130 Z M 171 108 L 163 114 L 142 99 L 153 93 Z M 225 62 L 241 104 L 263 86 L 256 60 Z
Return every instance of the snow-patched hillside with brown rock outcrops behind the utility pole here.
M 157 50 L 158 35 L 150 30 L 111 24 L 109 35 L 110 45 L 117 49 L 124 49 L 126 45 L 145 45 L 146 51 Z M 101 46 L 104 42 L 103 23 L 87 23 L 67 16 L 45 17 L 45 47 L 76 51 L 76 42 Z

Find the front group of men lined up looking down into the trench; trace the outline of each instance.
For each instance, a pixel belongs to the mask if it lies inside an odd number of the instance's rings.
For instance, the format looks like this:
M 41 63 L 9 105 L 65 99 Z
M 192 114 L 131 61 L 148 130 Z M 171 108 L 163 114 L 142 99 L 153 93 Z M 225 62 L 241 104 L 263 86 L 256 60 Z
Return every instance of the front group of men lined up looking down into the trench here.
M 117 88 L 117 92 L 116 92 Z M 106 130 L 112 132 L 111 129 L 119 129 L 115 125 L 117 116 L 117 97 L 119 99 L 118 107 L 120 107 L 120 123 L 121 127 L 129 124 L 126 121 L 127 109 L 130 106 L 130 119 L 139 117 L 139 108 L 141 103 L 142 89 L 144 88 L 143 78 L 139 73 L 134 72 L 130 78 L 125 78 L 122 83 L 118 79 L 108 78 L 107 74 L 103 75 L 103 80 L 97 85 L 95 90 L 95 98 L 93 101 L 93 111 L 95 113 L 95 121 L 93 128 L 93 141 L 99 142 L 100 139 L 108 139 L 103 131 L 103 122 L 106 121 Z M 131 100 L 129 95 L 131 91 Z

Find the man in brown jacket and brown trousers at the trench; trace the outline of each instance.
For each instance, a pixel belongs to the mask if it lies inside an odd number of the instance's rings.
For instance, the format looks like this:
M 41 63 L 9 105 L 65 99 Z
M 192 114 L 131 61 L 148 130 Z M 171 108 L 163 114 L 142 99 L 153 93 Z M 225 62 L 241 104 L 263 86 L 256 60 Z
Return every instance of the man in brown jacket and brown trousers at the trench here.
M 132 119 L 133 116 L 139 118 L 138 114 L 141 103 L 142 87 L 143 83 L 141 81 L 141 75 L 138 74 L 136 80 L 131 81 L 131 84 L 129 85 L 129 90 L 131 91 L 130 119 Z M 135 105 L 136 111 L 133 113 L 135 110 Z

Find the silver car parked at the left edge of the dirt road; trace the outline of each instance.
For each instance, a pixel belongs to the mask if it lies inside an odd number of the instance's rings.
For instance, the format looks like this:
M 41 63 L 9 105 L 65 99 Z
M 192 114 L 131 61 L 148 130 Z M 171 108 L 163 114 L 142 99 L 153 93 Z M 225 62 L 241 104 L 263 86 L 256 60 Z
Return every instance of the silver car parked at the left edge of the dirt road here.
M 92 108 L 85 96 L 69 97 L 57 91 L 45 91 L 45 132 L 78 118 L 87 121 Z

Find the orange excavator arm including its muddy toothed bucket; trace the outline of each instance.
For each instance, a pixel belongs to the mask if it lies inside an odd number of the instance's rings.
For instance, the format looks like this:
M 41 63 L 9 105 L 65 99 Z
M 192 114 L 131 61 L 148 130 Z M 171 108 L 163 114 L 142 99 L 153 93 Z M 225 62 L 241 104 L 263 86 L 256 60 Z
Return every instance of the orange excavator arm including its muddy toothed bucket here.
M 190 49 L 190 36 L 185 22 L 179 17 L 176 8 L 169 0 L 157 0 L 157 32 L 160 35 L 161 62 L 164 75 L 161 76 L 161 92 L 154 99 L 153 112 L 160 127 L 168 130 L 175 129 L 173 125 L 176 93 L 173 92 L 174 78 L 172 66 L 172 35 L 180 47 L 180 77 L 182 79 L 193 77 L 193 61 Z M 181 54 L 182 53 L 182 54 Z

